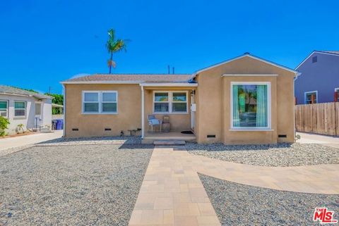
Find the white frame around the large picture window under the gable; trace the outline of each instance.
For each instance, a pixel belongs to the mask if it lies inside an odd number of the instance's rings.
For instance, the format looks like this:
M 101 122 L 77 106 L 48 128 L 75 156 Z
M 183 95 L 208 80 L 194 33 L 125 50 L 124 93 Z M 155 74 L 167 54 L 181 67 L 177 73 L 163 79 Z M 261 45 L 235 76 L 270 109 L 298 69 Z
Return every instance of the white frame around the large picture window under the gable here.
M 254 85 L 254 84 L 265 84 L 267 85 L 267 127 L 234 127 L 233 126 L 233 86 L 238 85 L 238 84 L 244 84 L 244 85 Z M 230 101 L 230 110 L 231 110 L 231 129 L 234 131 L 267 131 L 271 130 L 271 96 L 270 96 L 270 82 L 231 82 L 231 89 L 230 89 L 230 96 L 231 96 L 231 101 Z

